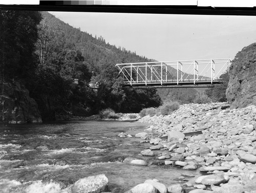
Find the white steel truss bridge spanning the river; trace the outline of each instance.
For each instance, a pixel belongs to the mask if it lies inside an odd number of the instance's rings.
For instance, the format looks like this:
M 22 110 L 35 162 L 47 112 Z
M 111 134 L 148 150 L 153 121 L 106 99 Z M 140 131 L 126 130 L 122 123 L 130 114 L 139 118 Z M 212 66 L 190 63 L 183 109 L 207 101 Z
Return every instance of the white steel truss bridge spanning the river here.
M 124 87 L 214 87 L 229 70 L 230 58 L 118 63 Z

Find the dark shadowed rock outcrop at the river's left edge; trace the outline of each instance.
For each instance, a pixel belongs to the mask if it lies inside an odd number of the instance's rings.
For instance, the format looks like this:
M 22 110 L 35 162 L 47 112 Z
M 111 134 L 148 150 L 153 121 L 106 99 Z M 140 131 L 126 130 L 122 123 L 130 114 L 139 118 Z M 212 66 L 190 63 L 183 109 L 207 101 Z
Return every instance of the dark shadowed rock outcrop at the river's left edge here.
M 4 90 L 2 90 L 4 87 Z M 6 123 L 37 123 L 41 115 L 34 99 L 29 97 L 29 91 L 20 82 L 5 82 L 0 84 L 0 116 Z

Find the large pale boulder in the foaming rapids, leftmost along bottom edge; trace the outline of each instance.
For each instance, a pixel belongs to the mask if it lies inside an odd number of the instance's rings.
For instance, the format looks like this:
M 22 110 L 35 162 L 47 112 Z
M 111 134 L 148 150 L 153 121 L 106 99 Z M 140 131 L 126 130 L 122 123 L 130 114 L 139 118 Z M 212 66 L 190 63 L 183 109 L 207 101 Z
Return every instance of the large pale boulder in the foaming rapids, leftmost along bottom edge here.
M 70 193 L 100 193 L 106 189 L 109 180 L 104 174 L 90 176 L 76 181 L 69 189 Z

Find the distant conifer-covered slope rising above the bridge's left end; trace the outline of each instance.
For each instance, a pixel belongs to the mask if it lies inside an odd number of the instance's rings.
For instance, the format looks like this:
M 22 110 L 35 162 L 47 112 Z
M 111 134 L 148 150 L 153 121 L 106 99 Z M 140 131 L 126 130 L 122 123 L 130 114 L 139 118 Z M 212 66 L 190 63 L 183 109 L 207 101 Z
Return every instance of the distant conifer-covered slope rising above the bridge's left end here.
M 43 17 L 47 15 L 51 14 L 42 12 Z M 58 18 L 56 19 L 57 25 L 59 25 L 65 35 L 66 41 L 74 44 L 76 48 L 81 50 L 82 56 L 88 62 L 90 70 L 94 71 L 95 75 L 100 73 L 100 68 L 104 63 L 116 65 L 116 63 L 151 61 L 148 58 L 137 55 L 136 52 L 110 45 L 101 36 L 93 37 L 92 34 L 80 31 L 80 29 L 74 28 Z

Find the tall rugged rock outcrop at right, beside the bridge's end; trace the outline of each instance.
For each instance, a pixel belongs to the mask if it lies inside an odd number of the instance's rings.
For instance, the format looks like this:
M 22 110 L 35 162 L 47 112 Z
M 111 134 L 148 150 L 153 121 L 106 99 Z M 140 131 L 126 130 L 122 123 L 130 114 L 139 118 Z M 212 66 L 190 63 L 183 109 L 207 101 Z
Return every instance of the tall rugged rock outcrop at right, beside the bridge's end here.
M 226 97 L 230 108 L 256 105 L 256 43 L 244 47 L 232 60 Z

